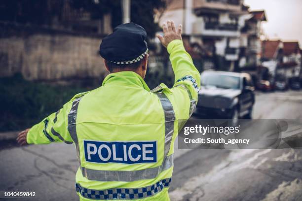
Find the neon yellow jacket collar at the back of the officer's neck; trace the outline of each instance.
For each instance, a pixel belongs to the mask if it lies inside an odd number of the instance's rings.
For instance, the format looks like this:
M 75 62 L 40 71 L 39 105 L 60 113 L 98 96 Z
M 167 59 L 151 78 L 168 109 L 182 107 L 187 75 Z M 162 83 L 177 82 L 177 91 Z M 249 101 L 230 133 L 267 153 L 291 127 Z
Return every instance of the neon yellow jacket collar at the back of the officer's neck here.
M 133 71 L 120 71 L 107 75 L 102 83 L 104 85 L 138 86 L 151 91 L 144 79 Z

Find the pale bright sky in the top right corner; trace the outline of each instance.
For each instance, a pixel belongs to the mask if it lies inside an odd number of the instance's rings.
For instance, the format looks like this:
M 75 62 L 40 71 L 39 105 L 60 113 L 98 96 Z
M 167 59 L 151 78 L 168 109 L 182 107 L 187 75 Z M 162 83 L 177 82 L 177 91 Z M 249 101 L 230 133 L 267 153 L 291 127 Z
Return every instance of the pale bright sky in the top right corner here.
M 302 0 L 244 0 L 251 10 L 265 10 L 269 39 L 299 40 L 302 47 Z

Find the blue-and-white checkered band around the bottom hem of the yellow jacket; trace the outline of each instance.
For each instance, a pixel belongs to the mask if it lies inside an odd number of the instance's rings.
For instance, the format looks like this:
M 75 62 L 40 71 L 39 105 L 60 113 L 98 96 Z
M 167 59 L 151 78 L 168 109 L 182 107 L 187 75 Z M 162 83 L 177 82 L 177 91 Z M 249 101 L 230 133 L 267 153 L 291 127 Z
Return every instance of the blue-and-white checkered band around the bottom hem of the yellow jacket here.
M 82 197 L 92 200 L 134 200 L 154 196 L 164 188 L 168 188 L 170 182 L 171 178 L 166 178 L 143 188 L 115 188 L 106 190 L 87 189 L 80 184 L 76 184 L 76 192 Z

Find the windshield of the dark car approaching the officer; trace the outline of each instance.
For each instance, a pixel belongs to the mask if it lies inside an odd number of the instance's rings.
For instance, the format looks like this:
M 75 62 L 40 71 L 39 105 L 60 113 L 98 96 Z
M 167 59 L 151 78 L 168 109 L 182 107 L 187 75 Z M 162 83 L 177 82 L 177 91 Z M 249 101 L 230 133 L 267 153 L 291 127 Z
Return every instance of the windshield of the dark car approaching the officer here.
M 215 86 L 224 89 L 239 89 L 240 79 L 239 77 L 231 75 L 203 73 L 201 75 L 201 85 Z

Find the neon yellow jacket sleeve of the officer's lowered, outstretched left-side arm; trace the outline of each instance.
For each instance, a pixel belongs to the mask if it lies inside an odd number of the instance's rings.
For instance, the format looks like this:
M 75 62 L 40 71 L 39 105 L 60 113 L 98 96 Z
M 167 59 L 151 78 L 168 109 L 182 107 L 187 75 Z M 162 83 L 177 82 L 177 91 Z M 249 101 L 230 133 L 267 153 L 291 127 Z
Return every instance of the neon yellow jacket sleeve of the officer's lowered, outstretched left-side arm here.
M 73 140 L 68 131 L 68 114 L 72 108 L 73 100 L 85 93 L 76 95 L 64 104 L 59 111 L 52 113 L 40 123 L 33 126 L 27 134 L 29 144 L 49 144 L 51 142 L 65 142 L 72 144 Z

